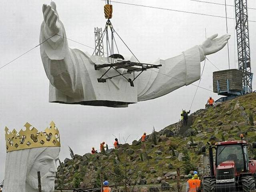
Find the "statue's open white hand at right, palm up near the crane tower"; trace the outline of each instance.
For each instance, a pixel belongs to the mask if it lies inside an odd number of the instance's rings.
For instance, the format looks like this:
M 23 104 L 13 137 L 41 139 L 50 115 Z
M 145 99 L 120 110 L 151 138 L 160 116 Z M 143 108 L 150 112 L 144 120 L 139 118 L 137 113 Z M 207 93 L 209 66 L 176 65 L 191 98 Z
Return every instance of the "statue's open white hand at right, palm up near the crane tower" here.
M 228 43 L 228 39 L 230 39 L 229 34 L 223 35 L 219 38 L 216 38 L 217 36 L 218 33 L 210 36 L 202 43 L 202 45 L 199 45 L 203 49 L 204 55 L 210 55 L 220 51 L 220 49 Z

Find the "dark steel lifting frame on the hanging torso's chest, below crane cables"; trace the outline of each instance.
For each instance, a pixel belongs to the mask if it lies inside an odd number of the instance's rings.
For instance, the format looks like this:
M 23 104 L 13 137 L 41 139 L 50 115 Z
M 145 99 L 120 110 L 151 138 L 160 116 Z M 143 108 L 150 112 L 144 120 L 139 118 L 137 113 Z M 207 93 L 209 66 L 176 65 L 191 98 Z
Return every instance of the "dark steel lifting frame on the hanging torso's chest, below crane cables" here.
M 147 69 L 152 69 L 156 68 L 159 69 L 162 65 L 153 65 L 153 64 L 146 64 L 146 63 L 136 63 L 136 62 L 131 62 L 131 61 L 121 61 L 118 60 L 117 63 L 108 63 L 108 64 L 102 64 L 102 65 L 94 65 L 95 70 L 100 70 L 102 68 L 109 67 L 109 69 L 102 74 L 100 78 L 97 78 L 98 82 L 106 82 L 107 79 L 111 79 L 116 76 L 123 76 L 128 82 L 130 82 L 130 86 L 134 87 L 134 80 L 143 72 L 146 71 Z M 114 69 L 116 72 L 118 72 L 117 75 L 103 78 L 103 76 L 110 70 Z M 118 69 L 127 69 L 127 72 L 121 73 L 118 71 Z M 133 80 L 131 78 L 127 78 L 124 76 L 125 74 L 131 74 L 132 72 L 140 72 L 137 76 L 134 76 Z

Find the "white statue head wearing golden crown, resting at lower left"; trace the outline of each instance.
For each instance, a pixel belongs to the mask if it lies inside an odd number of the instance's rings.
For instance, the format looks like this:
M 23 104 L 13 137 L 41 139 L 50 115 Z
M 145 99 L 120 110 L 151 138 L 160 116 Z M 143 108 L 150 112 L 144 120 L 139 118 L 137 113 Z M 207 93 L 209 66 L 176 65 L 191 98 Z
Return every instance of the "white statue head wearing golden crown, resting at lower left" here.
M 34 127 L 29 128 L 31 125 L 28 123 L 26 130 L 19 134 L 15 129 L 11 133 L 6 129 L 4 192 L 38 192 L 38 172 L 42 192 L 54 192 L 60 139 L 55 124 L 52 122 L 50 125 L 44 132 L 36 130 L 37 133 Z M 16 142 L 17 138 L 19 142 Z

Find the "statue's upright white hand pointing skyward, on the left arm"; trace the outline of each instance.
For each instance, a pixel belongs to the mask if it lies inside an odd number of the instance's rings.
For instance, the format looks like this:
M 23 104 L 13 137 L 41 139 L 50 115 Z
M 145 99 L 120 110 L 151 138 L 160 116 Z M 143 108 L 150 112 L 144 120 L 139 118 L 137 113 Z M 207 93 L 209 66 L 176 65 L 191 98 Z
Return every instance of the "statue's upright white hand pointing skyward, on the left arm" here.
M 56 10 L 56 4 L 51 2 L 51 5 L 43 4 L 42 8 L 44 14 L 44 22 L 51 33 L 58 33 L 60 31 L 60 23 L 58 13 Z

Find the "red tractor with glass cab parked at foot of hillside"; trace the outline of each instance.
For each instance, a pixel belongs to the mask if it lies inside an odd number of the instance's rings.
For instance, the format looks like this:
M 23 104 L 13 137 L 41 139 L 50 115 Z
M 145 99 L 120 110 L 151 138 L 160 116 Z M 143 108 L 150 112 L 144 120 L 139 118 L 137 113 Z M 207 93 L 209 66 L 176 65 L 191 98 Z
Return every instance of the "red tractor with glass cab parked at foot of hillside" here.
M 256 142 L 223 141 L 215 146 L 203 146 L 202 152 L 209 149 L 210 176 L 203 178 L 204 192 L 250 192 L 256 190 L 256 161 L 250 160 L 247 146 L 256 148 Z M 215 163 L 212 149 L 216 149 Z

